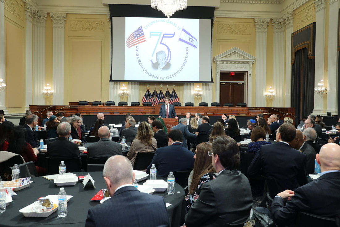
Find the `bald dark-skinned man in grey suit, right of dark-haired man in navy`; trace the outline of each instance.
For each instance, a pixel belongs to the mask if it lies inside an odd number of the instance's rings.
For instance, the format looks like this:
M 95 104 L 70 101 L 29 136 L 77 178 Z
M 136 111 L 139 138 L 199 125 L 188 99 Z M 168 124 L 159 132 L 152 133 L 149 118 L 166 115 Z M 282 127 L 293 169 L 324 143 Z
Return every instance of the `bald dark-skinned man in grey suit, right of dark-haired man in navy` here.
M 290 142 L 290 146 L 296 150 L 304 153 L 307 158 L 306 174 L 314 173 L 314 160 L 315 160 L 315 150 L 303 139 L 303 135 L 300 130 L 296 130 L 295 138 Z

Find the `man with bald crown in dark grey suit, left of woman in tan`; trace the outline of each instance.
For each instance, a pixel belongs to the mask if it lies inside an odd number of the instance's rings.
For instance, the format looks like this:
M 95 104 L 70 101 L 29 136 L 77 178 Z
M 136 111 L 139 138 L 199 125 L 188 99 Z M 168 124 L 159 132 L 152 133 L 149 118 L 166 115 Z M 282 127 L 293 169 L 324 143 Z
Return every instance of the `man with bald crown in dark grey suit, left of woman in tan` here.
M 109 158 L 113 155 L 122 154 L 122 145 L 109 139 L 110 129 L 107 126 L 101 126 L 98 129 L 100 140 L 87 147 L 87 161 L 92 158 Z

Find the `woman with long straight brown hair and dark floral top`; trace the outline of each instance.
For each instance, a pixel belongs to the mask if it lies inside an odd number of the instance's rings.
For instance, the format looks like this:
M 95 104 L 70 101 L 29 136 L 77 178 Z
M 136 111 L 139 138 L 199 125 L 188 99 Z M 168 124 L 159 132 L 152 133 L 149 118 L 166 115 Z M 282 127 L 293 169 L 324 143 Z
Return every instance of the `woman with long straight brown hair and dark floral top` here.
M 189 194 L 185 196 L 187 213 L 191 205 L 200 196 L 203 184 L 209 182 L 210 180 L 214 180 L 217 176 L 214 167 L 212 167 L 211 158 L 208 154 L 208 152 L 211 152 L 211 150 L 212 144 L 209 142 L 203 142 L 197 145 L 196 154 L 193 156 L 195 159 L 195 164 L 193 166 L 190 190 Z

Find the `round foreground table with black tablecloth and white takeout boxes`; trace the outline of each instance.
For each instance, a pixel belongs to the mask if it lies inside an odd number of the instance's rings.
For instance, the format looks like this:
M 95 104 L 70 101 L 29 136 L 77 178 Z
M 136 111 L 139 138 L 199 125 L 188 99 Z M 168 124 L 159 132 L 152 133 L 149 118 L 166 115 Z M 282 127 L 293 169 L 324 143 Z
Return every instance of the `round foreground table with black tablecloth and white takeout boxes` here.
M 106 188 L 103 172 L 74 172 L 78 176 L 85 176 L 90 173 L 91 177 L 95 181 L 94 188 L 91 183 L 87 183 L 85 188 L 81 181 L 73 186 L 56 186 L 53 181 L 49 181 L 43 177 L 31 178 L 33 181 L 31 185 L 20 191 L 16 191 L 17 196 L 13 197 L 13 201 L 6 207 L 4 213 L 0 213 L 0 226 L 19 227 L 19 226 L 84 226 L 89 208 L 94 206 L 100 206 L 99 201 L 90 201 L 90 199 L 102 188 Z M 149 177 L 148 177 L 149 178 Z M 161 178 L 158 178 L 161 179 Z M 163 180 L 166 180 L 162 178 Z M 144 181 L 138 182 L 142 184 Z M 19 212 L 21 208 L 24 208 L 34 201 L 37 201 L 39 197 L 45 197 L 47 195 L 57 195 L 60 191 L 60 187 L 64 187 L 67 195 L 73 197 L 67 202 L 68 214 L 64 218 L 58 217 L 58 211 L 55 211 L 48 217 L 25 217 Z M 180 193 L 177 193 L 180 192 Z M 165 192 L 154 192 L 153 195 L 163 196 L 165 202 L 171 203 L 171 206 L 167 208 L 170 217 L 170 226 L 178 227 L 181 225 L 181 218 L 185 215 L 185 192 L 183 188 L 175 183 L 175 194 L 168 195 L 167 190 Z M 184 213 L 183 213 L 184 212 Z M 109 218 L 109 217 L 108 217 Z M 113 223 L 114 224 L 114 223 Z

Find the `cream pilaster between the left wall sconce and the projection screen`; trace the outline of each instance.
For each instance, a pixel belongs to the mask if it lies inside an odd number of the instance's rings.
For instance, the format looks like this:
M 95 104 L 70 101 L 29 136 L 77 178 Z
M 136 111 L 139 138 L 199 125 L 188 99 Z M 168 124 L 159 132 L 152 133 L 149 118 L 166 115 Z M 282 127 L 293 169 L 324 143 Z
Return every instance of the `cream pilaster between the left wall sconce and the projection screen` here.
M 53 31 L 53 105 L 64 105 L 64 39 L 66 13 L 50 13 Z

